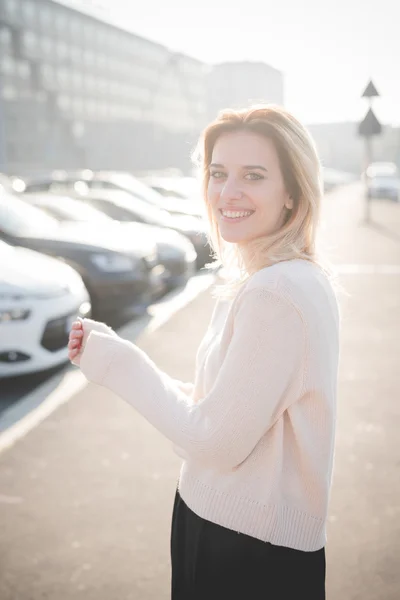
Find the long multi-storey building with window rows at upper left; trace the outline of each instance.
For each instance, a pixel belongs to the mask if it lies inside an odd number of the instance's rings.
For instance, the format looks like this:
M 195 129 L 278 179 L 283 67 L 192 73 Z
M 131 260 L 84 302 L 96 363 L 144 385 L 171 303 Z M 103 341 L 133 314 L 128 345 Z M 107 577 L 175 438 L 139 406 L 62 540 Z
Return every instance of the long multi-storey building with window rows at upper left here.
M 179 166 L 204 65 L 52 0 L 0 2 L 0 170 Z

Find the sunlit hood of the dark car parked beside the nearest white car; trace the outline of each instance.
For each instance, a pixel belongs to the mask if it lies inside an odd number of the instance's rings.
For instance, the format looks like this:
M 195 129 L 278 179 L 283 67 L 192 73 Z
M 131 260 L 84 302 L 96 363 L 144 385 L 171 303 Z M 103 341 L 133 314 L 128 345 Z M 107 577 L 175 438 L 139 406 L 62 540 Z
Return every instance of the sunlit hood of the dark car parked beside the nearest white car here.
M 35 237 L 46 240 L 93 246 L 101 250 L 114 252 L 135 252 L 140 255 L 151 253 L 154 242 L 148 239 L 144 231 L 137 228 L 135 235 L 132 229 L 121 227 L 119 223 L 111 223 L 104 227 L 91 223 L 60 223 L 51 231 L 38 232 Z

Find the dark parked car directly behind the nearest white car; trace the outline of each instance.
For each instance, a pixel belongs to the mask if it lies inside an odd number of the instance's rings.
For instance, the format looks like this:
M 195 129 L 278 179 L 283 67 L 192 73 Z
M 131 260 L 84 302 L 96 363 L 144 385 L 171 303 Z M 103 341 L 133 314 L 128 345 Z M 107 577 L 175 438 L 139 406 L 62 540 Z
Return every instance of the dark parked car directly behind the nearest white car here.
M 60 224 L 17 196 L 0 193 L 0 239 L 37 250 L 74 267 L 89 291 L 93 313 L 143 313 L 164 285 L 157 248 L 132 236 L 107 235 L 86 223 Z

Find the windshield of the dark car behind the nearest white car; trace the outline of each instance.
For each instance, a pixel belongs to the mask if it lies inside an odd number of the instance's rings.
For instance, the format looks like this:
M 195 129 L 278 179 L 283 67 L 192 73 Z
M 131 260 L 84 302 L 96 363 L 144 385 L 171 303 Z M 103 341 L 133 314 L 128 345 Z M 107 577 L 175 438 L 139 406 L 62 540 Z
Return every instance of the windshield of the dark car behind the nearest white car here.
M 58 227 L 58 221 L 11 194 L 0 194 L 0 231 L 29 236 Z

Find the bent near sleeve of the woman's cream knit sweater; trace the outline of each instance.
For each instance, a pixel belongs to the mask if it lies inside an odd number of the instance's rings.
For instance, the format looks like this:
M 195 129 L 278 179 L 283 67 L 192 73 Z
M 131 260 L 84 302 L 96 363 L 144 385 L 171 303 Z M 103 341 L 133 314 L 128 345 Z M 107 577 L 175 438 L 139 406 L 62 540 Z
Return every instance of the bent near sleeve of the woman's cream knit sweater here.
M 179 447 L 180 456 L 233 469 L 300 397 L 305 328 L 277 291 L 246 291 L 213 387 L 198 403 L 138 347 L 92 332 L 81 359 L 84 375 L 135 407 Z M 182 452 L 183 451 L 183 452 Z

